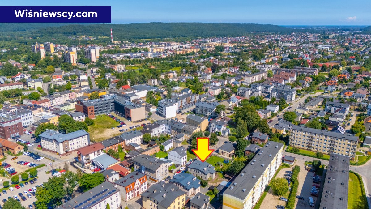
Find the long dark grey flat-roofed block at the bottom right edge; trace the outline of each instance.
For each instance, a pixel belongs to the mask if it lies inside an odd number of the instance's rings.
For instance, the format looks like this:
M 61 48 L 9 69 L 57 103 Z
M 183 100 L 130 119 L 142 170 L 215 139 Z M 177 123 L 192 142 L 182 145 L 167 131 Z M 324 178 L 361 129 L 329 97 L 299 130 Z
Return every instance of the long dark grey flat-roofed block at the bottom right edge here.
M 349 157 L 330 154 L 319 208 L 348 208 Z

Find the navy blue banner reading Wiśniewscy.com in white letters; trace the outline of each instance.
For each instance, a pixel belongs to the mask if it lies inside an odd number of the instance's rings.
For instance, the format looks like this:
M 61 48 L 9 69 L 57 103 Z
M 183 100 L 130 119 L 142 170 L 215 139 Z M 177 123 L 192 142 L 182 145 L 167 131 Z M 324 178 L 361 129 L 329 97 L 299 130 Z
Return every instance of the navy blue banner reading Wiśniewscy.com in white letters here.
M 110 6 L 0 6 L 4 23 L 110 23 Z

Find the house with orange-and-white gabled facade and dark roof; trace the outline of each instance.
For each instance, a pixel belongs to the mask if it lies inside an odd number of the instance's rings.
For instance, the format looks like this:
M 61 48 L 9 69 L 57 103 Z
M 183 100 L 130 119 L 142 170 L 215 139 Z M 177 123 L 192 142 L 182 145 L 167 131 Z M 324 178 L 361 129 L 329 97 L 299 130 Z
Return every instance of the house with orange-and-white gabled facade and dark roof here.
M 114 182 L 120 190 L 121 199 L 128 202 L 148 189 L 147 176 L 133 172 Z

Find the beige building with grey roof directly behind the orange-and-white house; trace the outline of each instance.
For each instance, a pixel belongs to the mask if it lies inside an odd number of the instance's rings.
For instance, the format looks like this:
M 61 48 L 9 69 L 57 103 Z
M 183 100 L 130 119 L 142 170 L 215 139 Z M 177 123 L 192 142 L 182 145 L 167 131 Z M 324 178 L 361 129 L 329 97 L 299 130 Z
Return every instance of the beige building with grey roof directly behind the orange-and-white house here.
M 159 182 L 169 175 L 169 161 L 158 160 L 156 157 L 142 154 L 134 157 L 133 163 L 134 171 L 146 174 L 151 181 Z

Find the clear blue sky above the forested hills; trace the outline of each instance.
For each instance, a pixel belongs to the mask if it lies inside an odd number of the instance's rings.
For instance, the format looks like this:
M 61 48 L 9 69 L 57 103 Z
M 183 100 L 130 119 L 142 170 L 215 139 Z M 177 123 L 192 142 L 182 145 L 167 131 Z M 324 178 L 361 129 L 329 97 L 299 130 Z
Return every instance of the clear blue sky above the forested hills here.
M 112 6 L 112 23 L 371 25 L 370 0 L 0 0 L 1 6 Z

